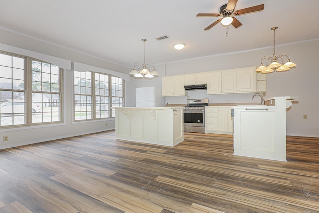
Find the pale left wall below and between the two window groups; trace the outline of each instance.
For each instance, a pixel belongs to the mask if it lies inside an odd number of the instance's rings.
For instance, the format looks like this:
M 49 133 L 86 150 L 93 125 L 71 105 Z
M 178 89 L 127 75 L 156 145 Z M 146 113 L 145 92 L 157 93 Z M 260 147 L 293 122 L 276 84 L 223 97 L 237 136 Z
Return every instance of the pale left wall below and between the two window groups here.
M 64 122 L 55 125 L 35 125 L 30 127 L 2 129 L 0 130 L 0 149 L 115 129 L 114 119 L 72 123 L 73 90 L 72 83 L 70 83 L 73 81 L 72 72 L 64 70 L 63 77 Z M 3 142 L 4 135 L 9 136 L 8 142 Z

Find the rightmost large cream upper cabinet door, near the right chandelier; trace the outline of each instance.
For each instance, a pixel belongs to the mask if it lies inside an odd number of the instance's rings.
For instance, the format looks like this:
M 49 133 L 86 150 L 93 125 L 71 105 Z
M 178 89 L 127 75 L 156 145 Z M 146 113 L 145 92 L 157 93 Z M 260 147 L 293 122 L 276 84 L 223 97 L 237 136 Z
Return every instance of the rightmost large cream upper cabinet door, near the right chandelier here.
M 255 91 L 255 69 L 237 70 L 237 92 Z

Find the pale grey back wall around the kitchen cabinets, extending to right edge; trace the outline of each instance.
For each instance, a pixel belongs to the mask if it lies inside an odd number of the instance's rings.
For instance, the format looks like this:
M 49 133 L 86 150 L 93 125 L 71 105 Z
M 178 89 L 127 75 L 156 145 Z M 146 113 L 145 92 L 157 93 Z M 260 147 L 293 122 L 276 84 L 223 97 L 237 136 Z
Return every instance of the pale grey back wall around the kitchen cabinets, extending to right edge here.
M 287 111 L 287 135 L 319 137 L 319 68 L 318 68 L 319 40 L 276 46 L 276 55 L 287 52 L 291 61 L 297 64 L 296 68 L 288 72 L 268 74 L 268 91 L 265 99 L 275 96 L 299 96 Z M 160 67 L 160 76 L 189 74 L 195 72 L 207 72 L 223 69 L 259 66 L 260 59 L 264 55 L 272 55 L 272 47 L 251 50 L 232 54 L 216 55 L 191 60 L 167 63 Z M 127 83 L 127 105 L 132 106 L 132 90 L 141 85 L 153 84 L 161 87 L 161 82 L 155 80 L 130 80 Z M 130 92 L 131 91 L 131 92 Z M 192 98 L 209 98 L 210 103 L 238 103 L 259 102 L 252 100 L 253 93 L 247 94 L 218 94 L 207 95 L 207 91 L 188 91 L 188 96 L 166 97 L 169 104 L 186 104 L 186 100 Z M 308 119 L 303 119 L 307 114 Z

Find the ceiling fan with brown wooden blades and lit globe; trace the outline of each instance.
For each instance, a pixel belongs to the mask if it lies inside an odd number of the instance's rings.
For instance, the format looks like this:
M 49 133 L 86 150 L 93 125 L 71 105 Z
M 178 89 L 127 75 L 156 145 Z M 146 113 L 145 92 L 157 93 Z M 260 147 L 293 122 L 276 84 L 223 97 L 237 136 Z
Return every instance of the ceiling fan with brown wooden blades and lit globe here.
M 221 22 L 224 26 L 233 25 L 235 28 L 243 25 L 237 18 L 234 16 L 244 15 L 251 12 L 258 12 L 264 10 L 264 4 L 260 4 L 257 6 L 248 7 L 245 9 L 235 10 L 235 6 L 238 0 L 228 0 L 228 3 L 223 4 L 219 8 L 219 14 L 217 13 L 198 13 L 196 17 L 220 17 L 222 18 L 216 20 L 214 23 L 207 26 L 204 30 L 209 30 L 217 23 Z

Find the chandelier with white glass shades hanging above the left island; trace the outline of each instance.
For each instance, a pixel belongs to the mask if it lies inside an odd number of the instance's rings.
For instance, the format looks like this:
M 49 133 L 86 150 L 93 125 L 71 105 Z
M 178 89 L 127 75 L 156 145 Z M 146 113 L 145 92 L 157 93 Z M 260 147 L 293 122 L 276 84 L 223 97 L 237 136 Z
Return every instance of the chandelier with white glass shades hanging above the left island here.
M 135 62 L 133 70 L 129 72 L 130 75 L 133 75 L 135 78 L 153 78 L 154 76 L 159 75 L 159 73 L 155 70 L 154 65 L 145 64 L 145 41 L 146 39 L 142 39 L 143 41 L 143 63 Z M 150 72 L 150 67 L 153 68 L 153 71 Z

